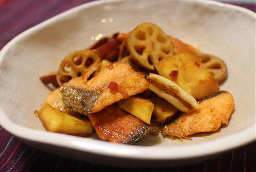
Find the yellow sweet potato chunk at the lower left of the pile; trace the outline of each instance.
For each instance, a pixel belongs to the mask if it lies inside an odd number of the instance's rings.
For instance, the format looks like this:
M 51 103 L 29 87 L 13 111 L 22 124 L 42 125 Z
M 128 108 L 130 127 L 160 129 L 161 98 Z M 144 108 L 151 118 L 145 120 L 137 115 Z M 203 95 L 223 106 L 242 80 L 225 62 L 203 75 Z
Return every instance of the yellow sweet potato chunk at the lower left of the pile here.
M 43 104 L 37 113 L 47 131 L 75 135 L 93 132 L 90 120 L 63 113 L 48 103 Z

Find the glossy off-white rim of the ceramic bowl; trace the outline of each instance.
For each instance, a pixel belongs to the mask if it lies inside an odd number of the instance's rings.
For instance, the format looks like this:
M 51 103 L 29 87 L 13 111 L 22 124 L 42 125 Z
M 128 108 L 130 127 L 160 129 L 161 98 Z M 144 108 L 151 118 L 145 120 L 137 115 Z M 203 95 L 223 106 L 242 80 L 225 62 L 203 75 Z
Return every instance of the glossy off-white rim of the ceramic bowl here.
M 87 9 L 96 5 L 122 2 L 122 1 L 126 1 L 126 0 L 106 0 L 106 1 L 100 0 L 100 1 L 94 1 L 90 3 L 82 4 L 37 24 L 36 26 L 20 33 L 18 36 L 13 38 L 10 42 L 8 42 L 2 48 L 2 50 L 0 51 L 0 64 L 2 63 L 2 60 L 4 59 L 4 56 L 8 52 L 9 48 L 11 48 L 15 42 L 22 40 L 27 36 L 29 36 L 30 34 L 37 32 L 38 30 L 44 28 L 48 24 L 53 23 L 56 20 L 63 18 L 75 11 Z M 179 1 L 202 3 L 202 4 L 224 7 L 224 8 L 246 13 L 249 16 L 255 18 L 254 12 L 242 7 L 235 6 L 235 5 L 223 4 L 216 1 L 204 1 L 204 0 L 192 0 L 192 1 L 179 0 Z M 252 124 L 247 128 L 244 128 L 243 130 L 238 131 L 237 133 L 233 133 L 222 138 L 216 138 L 214 140 L 204 141 L 201 143 L 190 144 L 186 146 L 184 145 L 175 145 L 171 147 L 156 146 L 153 149 L 152 146 L 114 144 L 114 143 L 104 142 L 101 140 L 96 140 L 91 138 L 80 138 L 80 137 L 71 136 L 71 135 L 63 135 L 58 133 L 51 133 L 46 131 L 29 129 L 23 126 L 19 126 L 14 122 L 12 122 L 8 118 L 8 116 L 4 113 L 1 107 L 0 107 L 0 117 L 1 117 L 0 125 L 5 130 L 7 130 L 11 134 L 21 139 L 32 141 L 32 142 L 56 145 L 62 148 L 77 150 L 84 153 L 92 153 L 97 155 L 104 155 L 104 156 L 118 157 L 118 158 L 143 159 L 143 160 L 177 160 L 177 159 L 195 158 L 195 157 L 214 155 L 214 154 L 221 153 L 223 151 L 228 151 L 234 148 L 238 148 L 239 146 L 252 142 L 253 140 L 256 139 L 255 124 Z

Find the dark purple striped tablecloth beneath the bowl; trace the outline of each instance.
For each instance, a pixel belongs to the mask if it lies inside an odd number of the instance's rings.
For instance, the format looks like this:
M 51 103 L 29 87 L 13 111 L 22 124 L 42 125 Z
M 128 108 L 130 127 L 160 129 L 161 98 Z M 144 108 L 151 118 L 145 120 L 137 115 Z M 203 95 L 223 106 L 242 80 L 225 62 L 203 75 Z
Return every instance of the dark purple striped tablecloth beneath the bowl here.
M 0 0 L 0 50 L 13 37 L 63 11 L 90 0 Z M 224 1 L 225 2 L 225 1 Z M 253 1 L 228 0 L 255 12 Z M 233 2 L 233 3 L 232 3 Z M 239 3 L 240 2 L 240 3 Z M 24 22 L 26 21 L 26 22 Z M 48 154 L 28 146 L 0 126 L 0 171 L 256 171 L 255 146 L 250 143 L 218 158 L 175 168 L 118 168 Z

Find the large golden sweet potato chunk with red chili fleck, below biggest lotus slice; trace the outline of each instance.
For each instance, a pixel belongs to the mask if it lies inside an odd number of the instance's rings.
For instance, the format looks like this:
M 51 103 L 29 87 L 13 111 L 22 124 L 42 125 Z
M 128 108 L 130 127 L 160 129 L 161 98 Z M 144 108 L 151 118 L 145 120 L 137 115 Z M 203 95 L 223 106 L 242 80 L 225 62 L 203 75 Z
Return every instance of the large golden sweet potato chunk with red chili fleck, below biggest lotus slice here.
M 220 90 L 218 81 L 191 53 L 180 53 L 163 59 L 156 65 L 156 69 L 159 75 L 178 84 L 196 100 Z M 177 76 L 172 75 L 173 71 L 178 71 Z

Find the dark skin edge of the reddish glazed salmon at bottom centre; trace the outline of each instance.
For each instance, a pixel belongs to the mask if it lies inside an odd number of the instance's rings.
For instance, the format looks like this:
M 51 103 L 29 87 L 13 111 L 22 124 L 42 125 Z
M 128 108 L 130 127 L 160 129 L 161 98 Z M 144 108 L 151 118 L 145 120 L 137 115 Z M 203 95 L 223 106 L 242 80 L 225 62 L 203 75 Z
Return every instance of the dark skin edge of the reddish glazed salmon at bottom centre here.
M 123 142 L 124 144 L 134 144 L 135 142 L 147 137 L 150 133 L 156 130 L 155 126 L 145 124 L 139 131 L 129 140 Z

